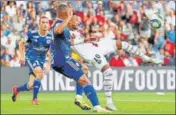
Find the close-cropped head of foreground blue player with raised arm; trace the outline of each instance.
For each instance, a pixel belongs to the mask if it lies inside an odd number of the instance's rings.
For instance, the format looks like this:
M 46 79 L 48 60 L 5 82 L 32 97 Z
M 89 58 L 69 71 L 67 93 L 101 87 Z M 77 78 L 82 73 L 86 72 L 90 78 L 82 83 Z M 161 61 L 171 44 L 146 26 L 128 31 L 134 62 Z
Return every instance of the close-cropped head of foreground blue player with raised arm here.
M 57 17 L 60 19 L 65 20 L 68 16 L 67 16 L 67 11 L 68 11 L 68 6 L 66 4 L 60 4 L 57 7 Z

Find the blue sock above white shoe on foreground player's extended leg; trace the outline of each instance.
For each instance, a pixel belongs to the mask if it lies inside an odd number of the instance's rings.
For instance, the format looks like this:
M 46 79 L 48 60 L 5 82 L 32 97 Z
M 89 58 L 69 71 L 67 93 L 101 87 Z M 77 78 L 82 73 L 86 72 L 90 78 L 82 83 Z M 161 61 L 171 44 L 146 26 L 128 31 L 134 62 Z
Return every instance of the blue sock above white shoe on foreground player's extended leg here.
M 93 106 L 99 105 L 96 91 L 92 85 L 90 85 L 90 84 L 85 85 L 84 92 L 85 92 L 87 98 L 91 101 Z

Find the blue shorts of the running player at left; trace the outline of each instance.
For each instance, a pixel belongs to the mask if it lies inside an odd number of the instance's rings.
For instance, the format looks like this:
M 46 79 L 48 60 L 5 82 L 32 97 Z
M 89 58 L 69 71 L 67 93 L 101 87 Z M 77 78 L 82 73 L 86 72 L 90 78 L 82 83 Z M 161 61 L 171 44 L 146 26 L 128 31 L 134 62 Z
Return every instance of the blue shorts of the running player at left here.
M 29 67 L 29 74 L 31 74 L 36 67 L 41 67 L 43 69 L 45 61 L 26 59 L 25 63 Z

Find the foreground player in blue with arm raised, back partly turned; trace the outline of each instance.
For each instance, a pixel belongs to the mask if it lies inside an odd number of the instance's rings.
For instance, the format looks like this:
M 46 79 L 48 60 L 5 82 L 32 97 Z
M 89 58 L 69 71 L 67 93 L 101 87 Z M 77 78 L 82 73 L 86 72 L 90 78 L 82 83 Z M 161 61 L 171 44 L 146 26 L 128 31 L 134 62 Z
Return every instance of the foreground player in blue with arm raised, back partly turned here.
M 60 4 L 56 10 L 57 19 L 53 24 L 54 57 L 52 68 L 68 78 L 76 81 L 83 88 L 87 98 L 93 105 L 94 112 L 109 112 L 99 105 L 95 89 L 82 71 L 80 63 L 71 57 L 71 39 L 68 23 L 71 23 L 73 11 L 66 4 Z

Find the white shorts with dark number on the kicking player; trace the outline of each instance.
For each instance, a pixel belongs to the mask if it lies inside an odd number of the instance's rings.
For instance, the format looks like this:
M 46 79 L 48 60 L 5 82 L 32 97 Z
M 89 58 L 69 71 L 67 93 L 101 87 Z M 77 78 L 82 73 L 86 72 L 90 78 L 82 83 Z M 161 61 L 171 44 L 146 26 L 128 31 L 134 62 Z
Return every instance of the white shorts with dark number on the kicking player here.
M 116 42 L 112 39 L 103 39 L 95 42 L 98 47 L 92 43 L 83 43 L 72 46 L 72 50 L 82 57 L 87 63 L 101 70 L 108 64 L 105 55 L 116 52 Z

